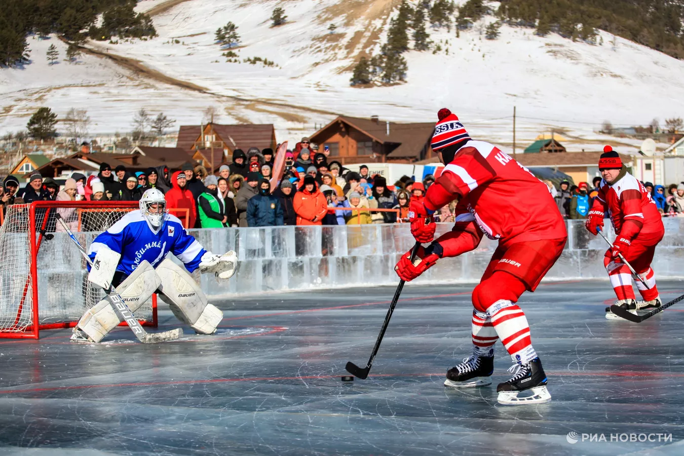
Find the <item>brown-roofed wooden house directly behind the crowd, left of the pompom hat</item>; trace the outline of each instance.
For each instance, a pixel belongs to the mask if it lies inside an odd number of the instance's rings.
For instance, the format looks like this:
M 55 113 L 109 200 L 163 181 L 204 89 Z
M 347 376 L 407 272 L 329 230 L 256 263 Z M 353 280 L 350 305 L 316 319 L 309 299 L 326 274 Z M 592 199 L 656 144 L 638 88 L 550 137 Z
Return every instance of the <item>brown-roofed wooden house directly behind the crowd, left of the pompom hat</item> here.
M 338 116 L 311 135 L 311 142 L 330 148 L 341 163 L 412 163 L 433 157 L 430 139 L 434 122 L 399 123 Z M 332 158 L 331 158 L 332 159 Z

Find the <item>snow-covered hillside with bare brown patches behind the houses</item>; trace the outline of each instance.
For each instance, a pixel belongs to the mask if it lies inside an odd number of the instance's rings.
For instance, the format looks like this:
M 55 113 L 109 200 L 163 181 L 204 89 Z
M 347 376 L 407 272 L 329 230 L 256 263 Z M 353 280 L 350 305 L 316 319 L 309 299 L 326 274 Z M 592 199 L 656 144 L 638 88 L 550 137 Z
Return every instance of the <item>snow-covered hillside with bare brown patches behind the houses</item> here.
M 493 17 L 461 31 L 460 38 L 453 29 L 429 29 L 442 51 L 406 53 L 406 83 L 350 87 L 354 62 L 377 51 L 397 3 L 144 0 L 139 10 L 172 5 L 153 16 L 157 38 L 88 46 L 133 59 L 139 68 L 156 71 L 157 79 L 92 55 L 79 65 L 48 66 L 44 53 L 57 40 L 30 40 L 34 63 L 0 70 L 0 131 L 21 128 L 41 105 L 60 114 L 85 106 L 93 129 L 106 132 L 129 131 L 142 106 L 179 123 L 197 123 L 201 111 L 215 105 L 220 122 L 273 122 L 282 139 L 295 139 L 335 113 L 432 121 L 447 106 L 471 134 L 505 144 L 512 139 L 515 105 L 518 144 L 555 128 L 577 137 L 580 148 L 604 139 L 592 133 L 603 120 L 628 126 L 682 115 L 684 62 L 603 31 L 600 46 L 508 26 L 497 40 L 486 40 L 484 28 Z M 271 27 L 276 6 L 285 8 L 287 23 Z M 239 27 L 241 43 L 233 51 L 241 60 L 262 57 L 276 66 L 225 62 L 214 31 L 228 21 Z M 334 33 L 330 24 L 337 26 Z M 160 74 L 170 79 L 159 81 Z M 179 81 L 195 90 L 180 88 Z

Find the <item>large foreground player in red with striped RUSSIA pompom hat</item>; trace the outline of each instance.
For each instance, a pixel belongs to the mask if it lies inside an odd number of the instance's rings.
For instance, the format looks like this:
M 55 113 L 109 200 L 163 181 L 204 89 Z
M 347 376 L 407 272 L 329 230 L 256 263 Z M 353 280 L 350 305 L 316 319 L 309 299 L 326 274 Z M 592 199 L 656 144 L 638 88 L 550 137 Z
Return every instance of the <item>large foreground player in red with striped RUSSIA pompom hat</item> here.
M 568 233 L 549 189 L 520 163 L 486 142 L 473 141 L 456 115 L 440 109 L 432 150 L 445 163 L 442 175 L 425 198 L 409 208 L 411 232 L 421 243 L 397 263 L 397 273 L 412 280 L 439 258 L 474 250 L 483 235 L 499 246 L 482 280 L 473 290 L 473 355 L 447 372 L 445 386 L 464 388 L 492 383 L 494 346 L 501 339 L 510 354 L 513 377 L 499 384 L 503 404 L 542 403 L 551 400 L 547 377 L 532 347 L 527 318 L 516 302 L 534 291 L 560 256 Z M 433 242 L 432 213 L 458 199 L 453 230 Z M 531 396 L 518 393 L 531 389 Z

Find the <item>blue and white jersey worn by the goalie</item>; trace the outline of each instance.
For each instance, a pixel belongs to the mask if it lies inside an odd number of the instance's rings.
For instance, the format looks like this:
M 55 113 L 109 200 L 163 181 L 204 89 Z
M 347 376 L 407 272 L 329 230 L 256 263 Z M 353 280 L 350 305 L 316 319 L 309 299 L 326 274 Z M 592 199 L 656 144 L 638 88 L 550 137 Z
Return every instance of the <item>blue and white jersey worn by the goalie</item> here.
M 90 244 L 88 255 L 94 259 L 103 248 L 121 254 L 116 270 L 127 275 L 135 271 L 143 260 L 157 267 L 169 252 L 192 272 L 207 252 L 194 237 L 187 234 L 181 221 L 174 215 L 166 214 L 161 227 L 155 232 L 140 211 L 127 213 L 107 231 L 99 234 Z

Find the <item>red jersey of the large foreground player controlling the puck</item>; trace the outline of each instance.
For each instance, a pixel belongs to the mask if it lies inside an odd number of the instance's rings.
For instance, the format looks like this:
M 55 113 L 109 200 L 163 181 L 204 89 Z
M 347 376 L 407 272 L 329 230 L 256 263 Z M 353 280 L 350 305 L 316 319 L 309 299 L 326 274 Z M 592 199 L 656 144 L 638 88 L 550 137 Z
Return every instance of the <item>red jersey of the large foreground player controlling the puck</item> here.
M 425 194 L 436 211 L 459 198 L 456 220 L 475 220 L 501 243 L 562 239 L 568 232 L 549 188 L 492 144 L 469 141 Z

